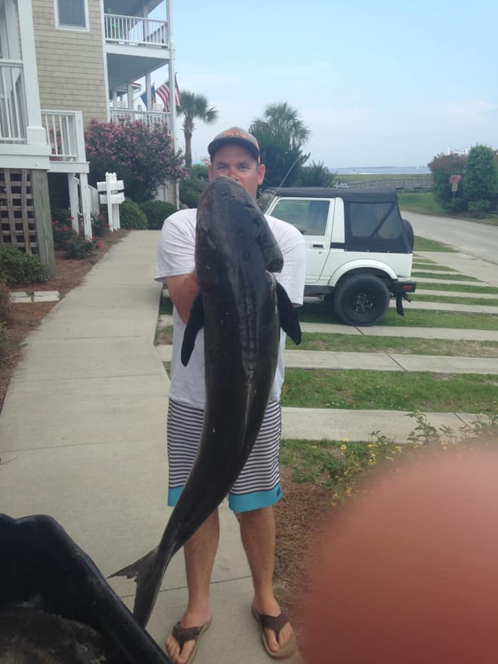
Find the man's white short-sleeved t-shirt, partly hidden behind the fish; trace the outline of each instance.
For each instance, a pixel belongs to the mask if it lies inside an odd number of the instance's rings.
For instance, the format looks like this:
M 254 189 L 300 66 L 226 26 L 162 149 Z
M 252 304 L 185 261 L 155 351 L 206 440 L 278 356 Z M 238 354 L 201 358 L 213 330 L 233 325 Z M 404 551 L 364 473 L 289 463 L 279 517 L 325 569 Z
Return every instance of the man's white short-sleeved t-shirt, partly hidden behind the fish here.
M 180 210 L 169 216 L 163 223 L 156 252 L 156 281 L 165 277 L 188 275 L 195 270 L 195 237 L 197 210 Z M 306 277 L 306 249 L 302 234 L 293 225 L 265 215 L 270 229 L 284 257 L 284 268 L 275 273 L 277 281 L 284 286 L 293 304 L 302 304 L 304 279 Z M 196 338 L 194 351 L 186 367 L 180 360 L 185 323 L 173 308 L 173 352 L 171 385 L 169 396 L 175 401 L 187 403 L 203 409 L 205 404 L 204 383 L 204 333 L 201 330 Z M 286 335 L 280 331 L 280 348 L 275 381 L 270 400 L 278 401 L 284 382 L 284 347 Z

